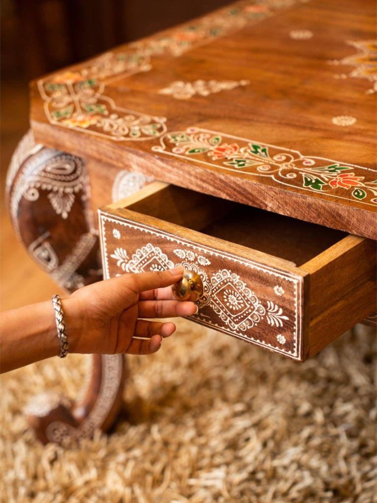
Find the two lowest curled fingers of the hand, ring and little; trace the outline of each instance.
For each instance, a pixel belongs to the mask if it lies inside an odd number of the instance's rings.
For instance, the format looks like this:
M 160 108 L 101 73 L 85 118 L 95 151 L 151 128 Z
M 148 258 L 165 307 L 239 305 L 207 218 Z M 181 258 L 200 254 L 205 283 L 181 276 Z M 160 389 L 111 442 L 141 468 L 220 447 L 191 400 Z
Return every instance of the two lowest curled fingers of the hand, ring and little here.
M 148 339 L 135 339 L 127 349 L 129 355 L 150 355 L 161 347 L 163 337 L 169 337 L 175 331 L 174 323 L 159 323 L 157 321 L 146 321 L 139 319 L 136 323 L 135 337 Z

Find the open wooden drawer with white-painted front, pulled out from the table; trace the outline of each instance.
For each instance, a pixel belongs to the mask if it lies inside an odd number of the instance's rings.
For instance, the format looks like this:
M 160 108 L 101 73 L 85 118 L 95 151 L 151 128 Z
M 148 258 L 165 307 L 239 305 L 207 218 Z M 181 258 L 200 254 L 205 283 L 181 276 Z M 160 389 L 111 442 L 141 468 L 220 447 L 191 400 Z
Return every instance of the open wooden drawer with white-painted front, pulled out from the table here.
M 198 272 L 193 321 L 304 361 L 375 311 L 375 242 L 155 182 L 99 210 L 105 278 Z

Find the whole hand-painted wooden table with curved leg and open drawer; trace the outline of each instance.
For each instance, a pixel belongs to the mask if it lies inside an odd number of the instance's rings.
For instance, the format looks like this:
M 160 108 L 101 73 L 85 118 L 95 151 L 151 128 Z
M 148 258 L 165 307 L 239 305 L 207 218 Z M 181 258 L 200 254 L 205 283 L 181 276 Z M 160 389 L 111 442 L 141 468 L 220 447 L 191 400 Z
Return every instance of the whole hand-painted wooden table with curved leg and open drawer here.
M 313 356 L 375 310 L 374 17 L 241 0 L 32 82 L 8 177 L 31 257 L 69 291 L 183 264 L 194 321 Z M 81 403 L 34 402 L 38 437 L 109 428 L 125 374 L 93 356 Z

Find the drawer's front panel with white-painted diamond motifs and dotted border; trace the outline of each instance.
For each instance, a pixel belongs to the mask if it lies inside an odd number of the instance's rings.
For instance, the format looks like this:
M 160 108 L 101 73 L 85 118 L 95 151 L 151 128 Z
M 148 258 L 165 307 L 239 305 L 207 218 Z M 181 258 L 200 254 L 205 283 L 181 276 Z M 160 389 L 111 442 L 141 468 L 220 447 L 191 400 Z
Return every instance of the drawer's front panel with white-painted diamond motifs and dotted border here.
M 303 277 L 223 249 L 100 212 L 105 278 L 183 266 L 198 272 L 204 295 L 193 321 L 302 360 Z M 204 236 L 205 237 L 205 236 Z

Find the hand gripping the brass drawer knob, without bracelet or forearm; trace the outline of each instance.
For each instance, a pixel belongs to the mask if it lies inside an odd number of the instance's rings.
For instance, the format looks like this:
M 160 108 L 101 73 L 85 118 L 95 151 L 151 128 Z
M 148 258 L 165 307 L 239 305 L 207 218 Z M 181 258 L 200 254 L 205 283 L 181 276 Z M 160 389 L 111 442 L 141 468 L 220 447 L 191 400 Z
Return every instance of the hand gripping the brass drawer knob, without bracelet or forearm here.
M 62 299 L 71 353 L 147 355 L 155 353 L 174 323 L 140 318 L 190 316 L 194 302 L 179 302 L 171 286 L 183 268 L 128 273 L 80 288 Z M 144 339 L 138 339 L 144 338 Z

